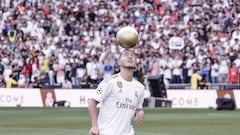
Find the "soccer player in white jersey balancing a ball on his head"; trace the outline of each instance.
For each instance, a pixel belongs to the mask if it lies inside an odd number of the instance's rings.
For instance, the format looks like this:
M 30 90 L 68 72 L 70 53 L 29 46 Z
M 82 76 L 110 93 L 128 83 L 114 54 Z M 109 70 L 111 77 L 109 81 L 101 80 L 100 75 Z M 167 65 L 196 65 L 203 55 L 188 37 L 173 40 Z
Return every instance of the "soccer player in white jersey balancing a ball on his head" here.
M 119 57 L 120 73 L 103 80 L 88 110 L 92 127 L 89 135 L 134 135 L 133 120 L 144 121 L 144 86 L 133 78 L 136 56 L 124 50 Z M 97 104 L 100 111 L 97 118 Z

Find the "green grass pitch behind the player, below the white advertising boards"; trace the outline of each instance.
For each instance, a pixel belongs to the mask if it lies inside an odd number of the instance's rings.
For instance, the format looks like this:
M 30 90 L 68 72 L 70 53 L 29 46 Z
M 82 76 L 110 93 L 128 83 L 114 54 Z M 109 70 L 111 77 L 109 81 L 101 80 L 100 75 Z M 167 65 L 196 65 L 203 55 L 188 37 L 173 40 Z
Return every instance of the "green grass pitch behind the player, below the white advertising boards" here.
M 0 135 L 87 135 L 86 108 L 0 108 Z M 238 135 L 240 113 L 208 109 L 145 109 L 136 135 Z

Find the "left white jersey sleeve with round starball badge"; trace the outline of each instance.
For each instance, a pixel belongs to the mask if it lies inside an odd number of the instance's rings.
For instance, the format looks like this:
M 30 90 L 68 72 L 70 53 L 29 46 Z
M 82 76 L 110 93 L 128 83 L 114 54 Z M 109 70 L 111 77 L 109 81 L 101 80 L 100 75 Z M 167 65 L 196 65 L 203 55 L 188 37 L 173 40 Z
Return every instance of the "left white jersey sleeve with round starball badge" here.
M 103 102 L 106 99 L 106 97 L 110 94 L 110 92 L 111 92 L 110 82 L 102 81 L 95 90 L 93 99 L 98 102 Z

